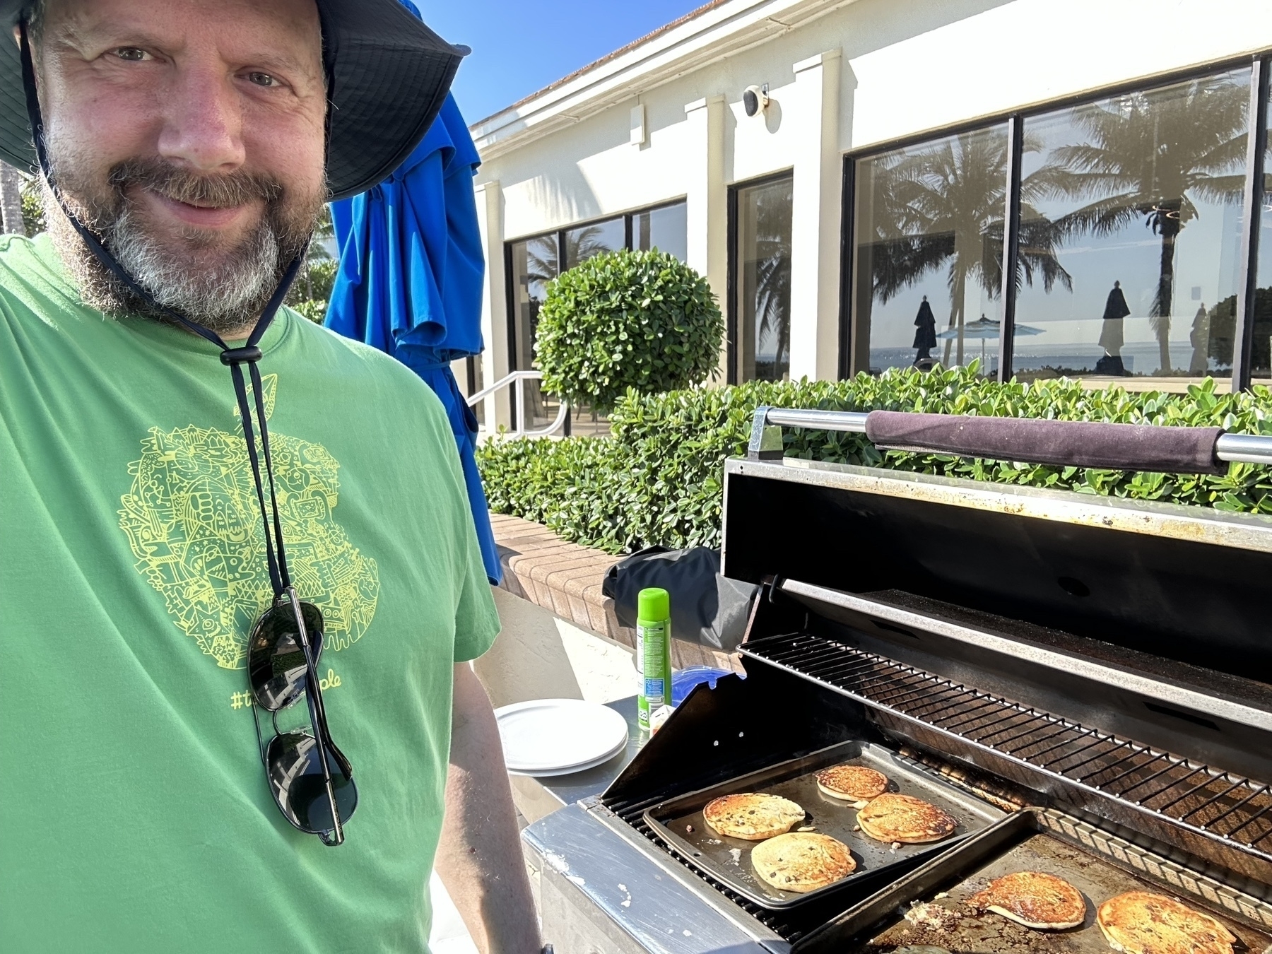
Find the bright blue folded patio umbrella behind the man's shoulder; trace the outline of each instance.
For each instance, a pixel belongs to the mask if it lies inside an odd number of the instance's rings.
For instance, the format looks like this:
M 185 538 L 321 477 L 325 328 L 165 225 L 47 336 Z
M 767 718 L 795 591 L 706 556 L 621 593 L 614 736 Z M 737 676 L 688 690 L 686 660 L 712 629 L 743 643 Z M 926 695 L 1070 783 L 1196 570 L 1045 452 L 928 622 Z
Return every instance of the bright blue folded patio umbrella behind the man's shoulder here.
M 472 183 L 480 162 L 459 107 L 448 95 L 424 140 L 388 179 L 332 202 L 340 270 L 324 324 L 393 355 L 441 398 L 459 446 L 486 575 L 499 583 L 495 534 L 473 457 L 477 418 L 450 371 L 453 360 L 483 347 L 486 263 Z

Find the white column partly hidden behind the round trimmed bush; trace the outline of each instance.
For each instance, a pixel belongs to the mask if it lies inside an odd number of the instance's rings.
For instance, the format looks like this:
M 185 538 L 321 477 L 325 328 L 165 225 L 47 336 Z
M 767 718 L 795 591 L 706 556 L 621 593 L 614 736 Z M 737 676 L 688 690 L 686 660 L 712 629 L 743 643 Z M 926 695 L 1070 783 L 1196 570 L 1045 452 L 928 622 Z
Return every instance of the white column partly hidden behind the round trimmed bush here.
M 686 168 L 689 169 L 686 196 L 688 265 L 706 276 L 720 310 L 726 312 L 729 287 L 729 210 L 724 178 L 725 99 L 706 97 L 686 104 L 689 123 L 686 136 Z M 717 383 L 725 380 L 728 351 L 720 349 Z

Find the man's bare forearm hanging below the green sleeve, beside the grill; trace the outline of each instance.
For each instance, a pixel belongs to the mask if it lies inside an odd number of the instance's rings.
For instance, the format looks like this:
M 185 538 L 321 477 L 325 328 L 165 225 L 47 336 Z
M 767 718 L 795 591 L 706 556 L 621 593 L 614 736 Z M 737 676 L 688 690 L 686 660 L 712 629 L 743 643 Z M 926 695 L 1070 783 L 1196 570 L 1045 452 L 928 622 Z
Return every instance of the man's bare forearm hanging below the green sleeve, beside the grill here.
M 438 874 L 482 954 L 539 954 L 499 728 L 472 667 L 455 667 L 446 818 Z

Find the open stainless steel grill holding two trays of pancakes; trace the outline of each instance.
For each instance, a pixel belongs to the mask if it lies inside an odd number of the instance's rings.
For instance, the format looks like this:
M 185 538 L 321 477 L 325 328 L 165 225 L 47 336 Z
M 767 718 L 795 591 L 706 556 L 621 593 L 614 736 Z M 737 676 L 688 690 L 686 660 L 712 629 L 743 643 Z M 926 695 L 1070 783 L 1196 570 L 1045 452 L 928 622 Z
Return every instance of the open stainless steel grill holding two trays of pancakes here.
M 843 417 L 761 415 L 753 457 L 780 453 L 776 422 L 860 424 Z M 761 591 L 747 677 L 698 688 L 584 810 L 656 859 L 654 880 L 677 885 L 663 908 L 692 895 L 684 916 L 748 943 L 664 945 L 654 917 L 639 950 L 880 949 L 904 932 L 901 908 L 1024 864 L 1053 836 L 1061 876 L 1098 870 L 1091 899 L 1175 894 L 1272 950 L 1272 682 L 1255 682 L 1272 672 L 1272 519 L 790 458 L 729 460 L 725 474 L 722 572 Z M 850 740 L 1009 814 L 908 874 L 880 866 L 888 888 L 848 897 L 846 884 L 838 909 L 752 903 L 642 817 L 730 785 L 763 791 L 764 771 Z M 809 810 L 815 824 L 824 806 Z M 588 854 L 602 836 L 584 831 Z M 623 937 L 640 934 L 636 907 L 611 902 Z M 898 943 L 929 941 L 883 945 Z M 1082 943 L 1104 949 L 1098 930 Z

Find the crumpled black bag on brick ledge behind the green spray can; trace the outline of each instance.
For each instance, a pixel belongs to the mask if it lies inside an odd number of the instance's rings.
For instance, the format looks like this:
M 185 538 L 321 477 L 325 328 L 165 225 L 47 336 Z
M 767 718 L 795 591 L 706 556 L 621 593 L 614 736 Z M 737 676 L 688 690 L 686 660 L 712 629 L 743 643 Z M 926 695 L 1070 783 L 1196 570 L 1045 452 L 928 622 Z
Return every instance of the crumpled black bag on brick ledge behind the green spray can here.
M 614 563 L 600 585 L 623 626 L 636 626 L 636 597 L 660 586 L 672 598 L 672 636 L 733 653 L 742 642 L 756 595 L 752 583 L 720 575 L 720 551 L 647 547 Z

